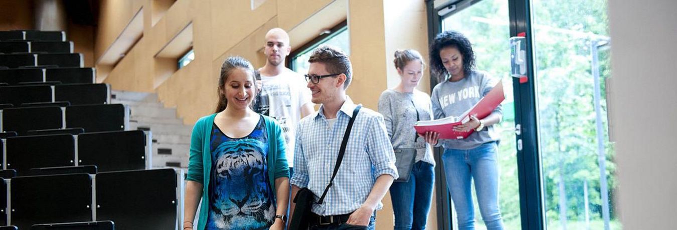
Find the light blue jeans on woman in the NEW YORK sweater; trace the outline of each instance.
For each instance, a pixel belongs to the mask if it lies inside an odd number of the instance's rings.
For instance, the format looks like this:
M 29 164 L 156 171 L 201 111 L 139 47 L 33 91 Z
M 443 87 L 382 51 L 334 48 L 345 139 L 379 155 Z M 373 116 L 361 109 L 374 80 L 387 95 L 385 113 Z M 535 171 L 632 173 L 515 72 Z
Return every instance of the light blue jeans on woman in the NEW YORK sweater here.
M 487 229 L 503 229 L 498 210 L 498 163 L 496 142 L 470 150 L 445 149 L 442 155 L 447 187 L 458 214 L 458 229 L 475 229 L 475 207 L 471 181 L 475 181 L 477 203 Z

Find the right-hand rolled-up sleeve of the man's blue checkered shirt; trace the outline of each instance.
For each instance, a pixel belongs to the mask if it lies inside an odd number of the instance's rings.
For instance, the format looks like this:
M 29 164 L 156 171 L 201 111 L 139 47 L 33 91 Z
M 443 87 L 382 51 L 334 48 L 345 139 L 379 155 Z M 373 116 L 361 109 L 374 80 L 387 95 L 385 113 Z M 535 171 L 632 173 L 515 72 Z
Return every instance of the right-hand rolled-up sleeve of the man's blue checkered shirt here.
M 397 179 L 397 167 L 395 167 L 395 152 L 388 138 L 388 132 L 383 121 L 383 116 L 378 115 L 369 122 L 370 128 L 367 135 L 367 154 L 374 167 L 374 178 L 388 174 Z

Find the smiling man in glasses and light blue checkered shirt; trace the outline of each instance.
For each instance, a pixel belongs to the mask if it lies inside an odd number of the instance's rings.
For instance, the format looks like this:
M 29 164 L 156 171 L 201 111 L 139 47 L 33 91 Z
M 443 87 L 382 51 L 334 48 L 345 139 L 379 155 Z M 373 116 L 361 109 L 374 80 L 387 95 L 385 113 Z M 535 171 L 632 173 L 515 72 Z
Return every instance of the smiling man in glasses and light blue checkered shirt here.
M 321 46 L 313 51 L 309 62 L 307 87 L 313 103 L 321 106 L 299 122 L 296 172 L 290 180 L 292 198 L 301 188 L 321 196 L 329 187 L 322 204 L 315 197 L 310 229 L 374 229 L 375 211 L 383 207 L 380 200 L 397 178 L 395 154 L 383 116 L 371 109 L 359 109 L 339 171 L 328 186 L 347 125 L 358 105 L 346 94 L 352 67 L 343 51 Z M 295 204 L 290 207 L 292 215 Z

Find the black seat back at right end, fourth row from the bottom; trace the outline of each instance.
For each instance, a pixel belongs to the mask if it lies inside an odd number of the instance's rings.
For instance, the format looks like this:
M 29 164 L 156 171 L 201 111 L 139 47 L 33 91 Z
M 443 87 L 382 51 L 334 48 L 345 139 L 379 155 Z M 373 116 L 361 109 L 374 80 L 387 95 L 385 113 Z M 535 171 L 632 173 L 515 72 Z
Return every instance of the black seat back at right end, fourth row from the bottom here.
M 1 87 L 0 87 L 1 88 Z M 54 100 L 68 101 L 70 105 L 110 103 L 108 84 L 60 84 L 54 86 Z

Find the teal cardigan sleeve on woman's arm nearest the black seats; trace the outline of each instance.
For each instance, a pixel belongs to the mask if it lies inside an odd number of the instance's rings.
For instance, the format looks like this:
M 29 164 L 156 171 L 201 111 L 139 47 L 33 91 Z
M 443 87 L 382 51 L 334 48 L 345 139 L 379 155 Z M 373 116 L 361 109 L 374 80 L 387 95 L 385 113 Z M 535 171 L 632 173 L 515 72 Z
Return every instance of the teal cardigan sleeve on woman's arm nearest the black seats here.
M 188 161 L 188 175 L 185 179 L 204 183 L 202 161 L 202 144 L 204 139 L 204 119 L 198 120 L 193 126 L 190 136 L 190 158 Z

